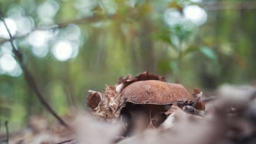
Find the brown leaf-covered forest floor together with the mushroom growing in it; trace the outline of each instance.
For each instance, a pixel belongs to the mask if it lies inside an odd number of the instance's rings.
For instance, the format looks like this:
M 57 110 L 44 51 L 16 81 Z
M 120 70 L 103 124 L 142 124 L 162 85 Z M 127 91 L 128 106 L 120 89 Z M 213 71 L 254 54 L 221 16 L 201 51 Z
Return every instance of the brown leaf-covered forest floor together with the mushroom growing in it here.
M 216 93 L 190 94 L 147 71 L 129 74 L 103 92 L 90 90 L 91 110 L 65 117 L 72 131 L 33 116 L 9 143 L 256 143 L 256 89 L 224 85 Z

